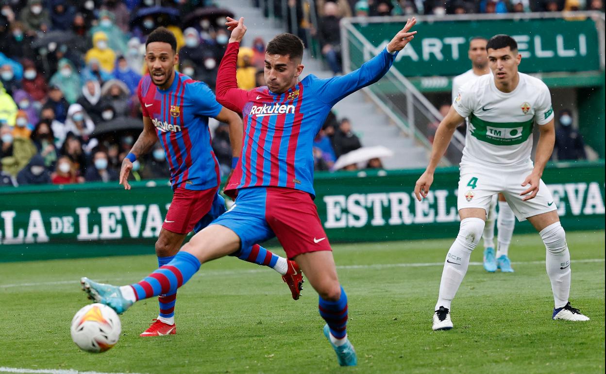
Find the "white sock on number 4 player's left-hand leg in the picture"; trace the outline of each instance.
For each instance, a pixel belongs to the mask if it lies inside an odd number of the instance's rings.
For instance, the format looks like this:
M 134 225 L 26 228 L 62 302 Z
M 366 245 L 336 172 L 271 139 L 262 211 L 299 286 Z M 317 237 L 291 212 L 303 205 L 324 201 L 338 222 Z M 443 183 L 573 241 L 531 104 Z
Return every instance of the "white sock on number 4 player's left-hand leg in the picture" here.
M 471 251 L 478 245 L 482 230 L 484 230 L 483 219 L 465 218 L 461 221 L 459 235 L 457 235 L 446 255 L 438 303 L 434 310 L 438 310 L 442 306 L 450 309 L 450 303 L 459 286 L 461 286 L 465 273 L 467 273 Z

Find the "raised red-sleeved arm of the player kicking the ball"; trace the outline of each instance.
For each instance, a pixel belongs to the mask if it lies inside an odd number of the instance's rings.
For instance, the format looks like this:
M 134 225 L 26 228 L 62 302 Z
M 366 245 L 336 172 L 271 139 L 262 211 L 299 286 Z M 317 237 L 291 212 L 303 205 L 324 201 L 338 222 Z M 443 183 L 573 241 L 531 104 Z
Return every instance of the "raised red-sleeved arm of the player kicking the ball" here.
M 231 37 L 225 55 L 219 64 L 217 72 L 216 98 L 219 104 L 234 112 L 241 113 L 244 104 L 248 98 L 248 92 L 238 88 L 238 80 L 236 79 L 236 64 L 238 62 L 238 50 L 240 41 L 246 33 L 244 26 L 244 18 L 239 21 L 231 17 L 227 17 L 227 29 L 231 30 Z

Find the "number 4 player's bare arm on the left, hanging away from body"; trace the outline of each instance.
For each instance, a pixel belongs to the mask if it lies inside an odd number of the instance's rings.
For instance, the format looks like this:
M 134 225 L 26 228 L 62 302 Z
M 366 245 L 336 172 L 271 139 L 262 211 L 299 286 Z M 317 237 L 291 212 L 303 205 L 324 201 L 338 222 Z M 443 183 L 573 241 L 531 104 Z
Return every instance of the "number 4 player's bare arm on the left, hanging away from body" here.
M 425 169 L 425 172 L 415 184 L 415 196 L 419 201 L 427 198 L 427 193 L 433 183 L 433 173 L 440 163 L 442 156 L 444 156 L 456 127 L 462 121 L 464 121 L 464 118 L 451 107 L 448 114 L 442 119 L 442 122 L 440 122 L 438 130 L 436 130 L 436 135 L 433 138 L 433 145 L 431 145 L 429 165 L 427 165 L 427 169 Z

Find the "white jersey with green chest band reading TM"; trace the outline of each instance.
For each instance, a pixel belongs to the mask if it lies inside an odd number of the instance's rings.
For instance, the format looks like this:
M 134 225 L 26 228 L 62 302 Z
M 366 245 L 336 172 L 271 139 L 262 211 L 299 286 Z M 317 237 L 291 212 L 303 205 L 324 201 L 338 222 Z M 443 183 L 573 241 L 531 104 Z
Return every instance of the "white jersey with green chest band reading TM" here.
M 534 124 L 553 119 L 549 88 L 541 79 L 518 73 L 510 93 L 496 88 L 487 74 L 459 88 L 454 110 L 469 119 L 461 164 L 528 165 Z

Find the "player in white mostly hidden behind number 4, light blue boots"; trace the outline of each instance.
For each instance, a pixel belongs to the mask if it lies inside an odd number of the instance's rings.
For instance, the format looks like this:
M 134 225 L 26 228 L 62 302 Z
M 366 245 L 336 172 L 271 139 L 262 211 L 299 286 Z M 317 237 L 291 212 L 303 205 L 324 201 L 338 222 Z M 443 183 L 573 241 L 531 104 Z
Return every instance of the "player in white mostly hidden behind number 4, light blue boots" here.
M 488 68 L 488 55 L 486 53 L 486 44 L 488 39 L 482 37 L 471 38 L 469 41 L 469 50 L 467 56 L 471 61 L 471 68 L 467 72 L 453 78 L 452 84 L 452 100 L 459 95 L 459 88 L 467 82 L 473 82 L 482 75 L 491 74 Z M 465 124 L 468 119 L 465 118 Z M 499 205 L 499 214 L 496 213 L 496 205 Z M 498 226 L 498 238 L 496 255 L 494 253 L 494 221 Z M 490 201 L 486 224 L 482 232 L 482 242 L 484 242 L 484 269 L 489 273 L 494 273 L 500 269 L 503 273 L 513 273 L 511 260 L 508 256 L 511 236 L 516 224 L 516 216 L 513 210 L 505 201 L 505 196 L 502 193 L 494 195 Z

